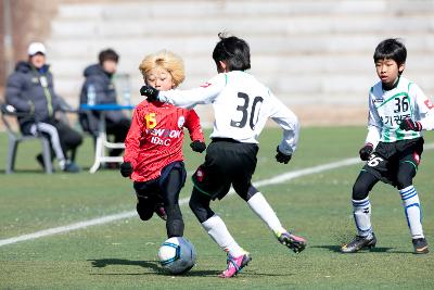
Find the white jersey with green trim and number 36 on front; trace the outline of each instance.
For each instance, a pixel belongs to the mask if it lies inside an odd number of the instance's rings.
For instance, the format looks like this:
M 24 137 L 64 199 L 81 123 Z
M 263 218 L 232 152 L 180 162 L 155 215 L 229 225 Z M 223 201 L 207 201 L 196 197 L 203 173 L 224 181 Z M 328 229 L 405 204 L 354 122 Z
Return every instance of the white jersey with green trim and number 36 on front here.
M 379 141 L 395 142 L 414 139 L 421 131 L 399 129 L 404 118 L 421 123 L 425 130 L 434 129 L 434 105 L 418 85 L 405 77 L 391 90 L 383 90 L 382 83 L 375 84 L 369 92 L 368 136 L 366 142 L 376 146 Z

